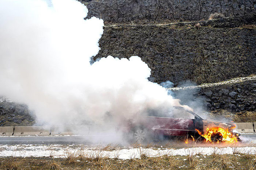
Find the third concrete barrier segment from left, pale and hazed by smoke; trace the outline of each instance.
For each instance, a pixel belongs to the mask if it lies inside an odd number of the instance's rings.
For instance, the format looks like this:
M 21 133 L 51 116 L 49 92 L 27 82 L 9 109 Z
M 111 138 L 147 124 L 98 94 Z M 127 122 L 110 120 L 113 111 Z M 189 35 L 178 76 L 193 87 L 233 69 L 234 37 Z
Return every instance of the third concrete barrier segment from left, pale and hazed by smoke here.
M 50 135 L 88 135 L 89 127 L 80 126 L 52 126 Z

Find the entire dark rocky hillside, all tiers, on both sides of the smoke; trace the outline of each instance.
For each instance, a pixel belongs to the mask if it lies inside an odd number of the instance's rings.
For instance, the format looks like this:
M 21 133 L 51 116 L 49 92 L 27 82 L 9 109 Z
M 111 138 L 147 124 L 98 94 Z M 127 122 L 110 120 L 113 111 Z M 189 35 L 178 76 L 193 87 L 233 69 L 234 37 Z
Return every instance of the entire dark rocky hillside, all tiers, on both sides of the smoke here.
M 79 0 L 105 23 L 93 60 L 137 55 L 150 81 L 175 86 L 215 83 L 256 74 L 256 1 Z M 208 20 L 219 12 L 225 17 Z M 256 121 L 256 80 L 173 91 L 182 104 Z M 188 83 L 189 82 L 189 83 Z M 249 112 L 251 118 L 247 118 Z M 233 117 L 234 118 L 234 117 Z M 1 100 L 0 126 L 31 125 L 25 104 Z

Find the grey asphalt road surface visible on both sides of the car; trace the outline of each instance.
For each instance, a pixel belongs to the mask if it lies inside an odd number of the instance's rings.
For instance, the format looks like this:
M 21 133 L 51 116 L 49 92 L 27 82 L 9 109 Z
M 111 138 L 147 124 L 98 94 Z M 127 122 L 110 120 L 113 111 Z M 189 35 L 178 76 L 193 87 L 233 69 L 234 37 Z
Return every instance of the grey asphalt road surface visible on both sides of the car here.
M 105 139 L 113 139 L 115 135 L 88 135 L 88 136 L 25 136 L 25 137 L 0 137 L 0 145 L 71 145 L 104 143 Z M 246 142 L 256 143 L 256 134 L 241 134 Z M 110 143 L 106 141 L 105 143 Z

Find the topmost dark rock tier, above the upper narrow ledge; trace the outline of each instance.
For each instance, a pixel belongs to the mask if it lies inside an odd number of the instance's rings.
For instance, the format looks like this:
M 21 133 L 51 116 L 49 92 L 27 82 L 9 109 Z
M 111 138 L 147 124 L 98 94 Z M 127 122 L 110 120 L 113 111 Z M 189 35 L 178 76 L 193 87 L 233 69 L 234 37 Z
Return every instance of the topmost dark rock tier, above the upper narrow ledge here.
M 238 16 L 256 12 L 256 1 L 245 0 L 79 0 L 89 9 L 88 17 L 122 23 L 137 20 L 201 20 L 211 13 Z

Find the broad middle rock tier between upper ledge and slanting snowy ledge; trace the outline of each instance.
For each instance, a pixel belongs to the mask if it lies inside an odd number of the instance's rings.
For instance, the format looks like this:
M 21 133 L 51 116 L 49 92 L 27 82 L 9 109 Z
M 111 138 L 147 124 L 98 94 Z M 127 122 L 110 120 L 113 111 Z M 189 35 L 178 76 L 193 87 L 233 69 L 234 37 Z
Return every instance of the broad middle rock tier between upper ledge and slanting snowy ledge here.
M 195 27 L 200 23 L 202 27 Z M 138 55 L 154 82 L 212 83 L 256 72 L 256 15 L 163 25 L 106 26 L 94 59 Z

